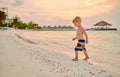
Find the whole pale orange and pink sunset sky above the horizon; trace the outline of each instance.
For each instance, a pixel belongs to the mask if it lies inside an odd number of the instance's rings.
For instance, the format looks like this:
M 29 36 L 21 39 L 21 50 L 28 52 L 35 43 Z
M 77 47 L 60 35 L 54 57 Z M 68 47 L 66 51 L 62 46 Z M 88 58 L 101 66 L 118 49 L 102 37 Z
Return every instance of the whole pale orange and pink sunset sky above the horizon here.
M 80 16 L 85 28 L 101 20 L 120 26 L 120 0 L 0 0 L 0 7 L 8 7 L 9 18 L 39 25 L 73 25 Z

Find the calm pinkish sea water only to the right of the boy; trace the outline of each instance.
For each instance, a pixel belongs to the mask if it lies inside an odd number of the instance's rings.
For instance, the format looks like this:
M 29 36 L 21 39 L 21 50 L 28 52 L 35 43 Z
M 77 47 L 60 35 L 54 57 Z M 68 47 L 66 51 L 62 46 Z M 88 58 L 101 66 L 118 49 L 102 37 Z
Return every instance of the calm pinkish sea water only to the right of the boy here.
M 120 71 L 120 31 L 88 31 L 88 52 L 93 61 Z

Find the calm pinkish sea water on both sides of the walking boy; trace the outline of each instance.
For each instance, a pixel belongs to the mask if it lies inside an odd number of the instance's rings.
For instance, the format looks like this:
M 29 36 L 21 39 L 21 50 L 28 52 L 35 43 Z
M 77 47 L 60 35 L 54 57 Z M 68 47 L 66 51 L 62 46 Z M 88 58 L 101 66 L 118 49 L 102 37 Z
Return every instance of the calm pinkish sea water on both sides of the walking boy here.
M 120 71 L 120 31 L 87 31 L 86 44 L 90 59 L 111 71 Z M 74 53 L 77 43 L 72 41 L 76 31 L 26 31 L 22 35 L 42 44 L 54 46 L 57 51 Z M 43 46 L 45 46 L 43 45 Z M 55 49 L 53 49 L 55 50 Z M 74 55 L 74 54 L 73 54 Z M 80 58 L 83 54 L 80 54 Z

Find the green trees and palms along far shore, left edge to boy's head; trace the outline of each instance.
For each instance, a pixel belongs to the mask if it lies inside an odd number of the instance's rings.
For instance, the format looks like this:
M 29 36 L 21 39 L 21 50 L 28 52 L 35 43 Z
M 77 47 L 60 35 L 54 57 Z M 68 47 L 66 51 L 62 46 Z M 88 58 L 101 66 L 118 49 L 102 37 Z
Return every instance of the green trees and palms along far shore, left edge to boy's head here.
M 23 22 L 20 17 L 15 16 L 11 19 L 6 18 L 6 13 L 0 11 L 0 27 L 11 27 L 15 29 L 38 29 L 38 30 L 72 30 L 70 25 L 38 25 L 35 22 Z

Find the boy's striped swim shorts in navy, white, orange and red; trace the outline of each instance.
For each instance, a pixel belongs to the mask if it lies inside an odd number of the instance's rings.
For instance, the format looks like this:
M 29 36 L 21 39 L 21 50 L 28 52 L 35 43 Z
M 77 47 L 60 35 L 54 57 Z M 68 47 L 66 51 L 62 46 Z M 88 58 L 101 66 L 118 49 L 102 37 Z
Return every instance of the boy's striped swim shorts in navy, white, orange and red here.
M 78 51 L 83 51 L 85 50 L 86 51 L 86 48 L 85 48 L 85 40 L 78 40 L 78 43 L 75 47 L 75 52 L 78 52 Z

